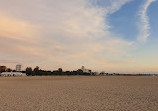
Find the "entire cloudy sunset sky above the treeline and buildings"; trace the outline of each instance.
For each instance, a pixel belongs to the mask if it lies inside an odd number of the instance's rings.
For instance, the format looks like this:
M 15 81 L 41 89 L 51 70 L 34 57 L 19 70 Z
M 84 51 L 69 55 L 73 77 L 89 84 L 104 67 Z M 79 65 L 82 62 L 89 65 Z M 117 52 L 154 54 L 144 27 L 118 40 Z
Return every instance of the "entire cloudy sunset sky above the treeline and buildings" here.
M 158 73 L 158 0 L 0 0 L 0 64 Z

